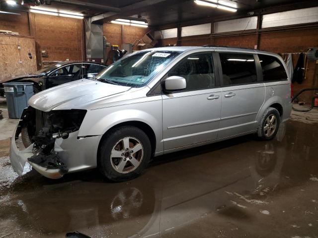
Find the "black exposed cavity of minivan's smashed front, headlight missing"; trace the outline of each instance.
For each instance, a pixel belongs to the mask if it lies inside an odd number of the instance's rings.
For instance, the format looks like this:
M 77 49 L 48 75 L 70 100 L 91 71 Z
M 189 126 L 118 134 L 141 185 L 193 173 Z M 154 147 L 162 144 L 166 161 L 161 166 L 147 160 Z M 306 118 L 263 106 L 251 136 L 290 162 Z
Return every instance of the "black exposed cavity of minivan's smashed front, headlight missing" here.
M 67 172 L 68 168 L 54 151 L 55 140 L 67 139 L 69 134 L 79 130 L 85 117 L 86 110 L 53 110 L 42 112 L 28 107 L 22 113 L 21 120 L 15 133 L 15 139 L 21 134 L 24 147 L 33 144 L 33 156 L 29 162 L 47 169 L 61 169 Z

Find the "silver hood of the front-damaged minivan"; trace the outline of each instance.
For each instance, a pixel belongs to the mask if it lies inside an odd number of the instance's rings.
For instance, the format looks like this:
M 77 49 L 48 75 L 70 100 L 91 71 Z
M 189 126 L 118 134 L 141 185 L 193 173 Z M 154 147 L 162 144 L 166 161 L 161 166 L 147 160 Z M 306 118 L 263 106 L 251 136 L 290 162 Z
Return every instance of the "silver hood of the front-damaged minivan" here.
M 79 105 L 115 95 L 129 90 L 130 87 L 113 85 L 89 79 L 49 88 L 32 96 L 29 105 L 43 112 L 66 109 L 79 109 Z

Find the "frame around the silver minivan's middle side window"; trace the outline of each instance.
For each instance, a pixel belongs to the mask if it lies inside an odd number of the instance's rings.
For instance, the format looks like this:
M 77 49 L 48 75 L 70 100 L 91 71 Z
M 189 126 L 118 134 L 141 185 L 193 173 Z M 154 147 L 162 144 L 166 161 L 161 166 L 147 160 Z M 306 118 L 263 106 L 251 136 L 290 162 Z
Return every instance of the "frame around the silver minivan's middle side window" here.
M 237 52 L 237 51 L 216 51 L 215 53 L 216 53 L 216 58 L 218 60 L 218 65 L 219 65 L 219 77 L 220 77 L 221 87 L 224 88 L 224 87 L 233 87 L 233 86 L 240 86 L 240 85 L 250 85 L 250 84 L 262 83 L 263 73 L 262 73 L 262 68 L 260 66 L 260 62 L 259 62 L 259 59 L 258 59 L 258 56 L 256 53 Z M 223 83 L 223 68 L 222 68 L 222 64 L 221 64 L 220 54 L 252 55 L 254 58 L 254 63 L 255 63 L 256 81 L 251 82 L 251 83 L 238 83 L 238 84 L 224 85 L 224 83 Z

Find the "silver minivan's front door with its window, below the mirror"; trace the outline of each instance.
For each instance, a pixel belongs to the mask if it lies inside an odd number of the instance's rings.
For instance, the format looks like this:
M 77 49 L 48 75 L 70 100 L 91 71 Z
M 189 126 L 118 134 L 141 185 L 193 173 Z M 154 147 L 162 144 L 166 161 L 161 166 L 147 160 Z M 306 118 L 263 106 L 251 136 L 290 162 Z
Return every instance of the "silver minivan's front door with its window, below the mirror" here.
M 164 150 L 217 138 L 221 114 L 221 89 L 217 87 L 211 52 L 181 60 L 169 76 L 181 76 L 186 89 L 162 95 Z

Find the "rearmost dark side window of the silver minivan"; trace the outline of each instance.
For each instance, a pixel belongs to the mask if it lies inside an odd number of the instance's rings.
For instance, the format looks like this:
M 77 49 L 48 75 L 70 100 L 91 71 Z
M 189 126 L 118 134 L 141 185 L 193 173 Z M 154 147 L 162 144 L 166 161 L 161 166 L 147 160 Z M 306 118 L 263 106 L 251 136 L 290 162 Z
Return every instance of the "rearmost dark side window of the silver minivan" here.
M 258 55 L 258 58 L 262 66 L 264 82 L 287 80 L 287 73 L 280 60 L 266 55 Z

